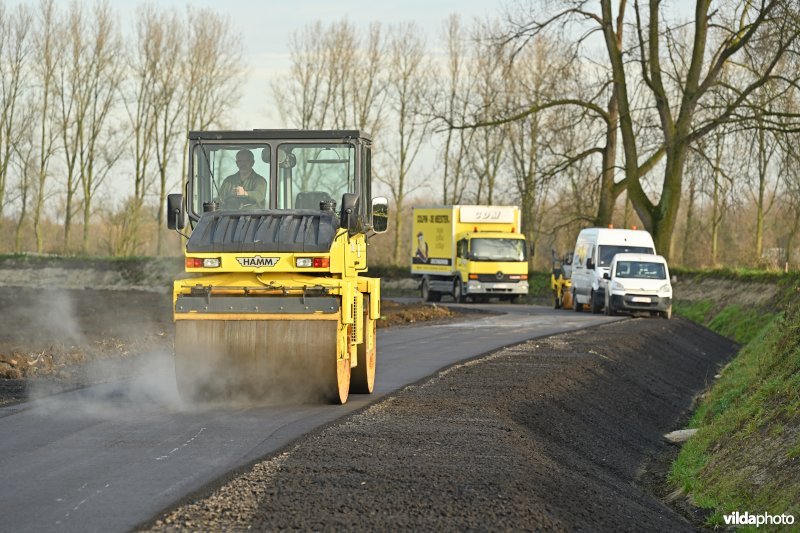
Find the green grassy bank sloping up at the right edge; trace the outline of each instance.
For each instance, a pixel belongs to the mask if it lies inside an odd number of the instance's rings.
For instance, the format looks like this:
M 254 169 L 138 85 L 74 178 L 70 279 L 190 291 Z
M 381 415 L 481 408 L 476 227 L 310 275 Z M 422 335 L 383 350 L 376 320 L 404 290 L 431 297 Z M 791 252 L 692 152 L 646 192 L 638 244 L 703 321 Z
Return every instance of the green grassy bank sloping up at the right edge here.
M 800 522 L 800 304 L 783 313 L 732 305 L 708 316 L 711 304 L 678 312 L 745 346 L 694 413 L 690 426 L 699 431 L 669 479 L 713 511 L 712 526 L 734 511 L 786 513 Z

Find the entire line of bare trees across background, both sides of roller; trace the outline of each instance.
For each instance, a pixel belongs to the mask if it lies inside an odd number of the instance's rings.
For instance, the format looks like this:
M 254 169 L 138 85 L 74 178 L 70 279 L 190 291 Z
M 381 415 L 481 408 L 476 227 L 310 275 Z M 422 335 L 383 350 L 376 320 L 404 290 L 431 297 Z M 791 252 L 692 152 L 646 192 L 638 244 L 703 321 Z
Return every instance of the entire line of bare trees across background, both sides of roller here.
M 792 257 L 797 0 L 696 0 L 686 14 L 658 0 L 521 6 L 493 21 L 453 15 L 434 39 L 412 23 L 347 19 L 289 39 L 289 68 L 265 88 L 276 126 L 372 134 L 374 175 L 394 203 L 382 262 L 406 262 L 419 203 L 518 204 L 540 251 L 613 223 L 644 225 L 687 264 Z M 0 0 L 6 248 L 32 227 L 41 251 L 55 212 L 63 249 L 78 216 L 90 249 L 93 199 L 114 190 L 126 201 L 103 219 L 107 251 L 141 253 L 150 221 L 147 249 L 162 253 L 185 133 L 222 126 L 236 105 L 241 43 L 209 10 L 145 5 L 129 33 L 103 3 Z M 537 257 L 546 266 L 549 254 Z

